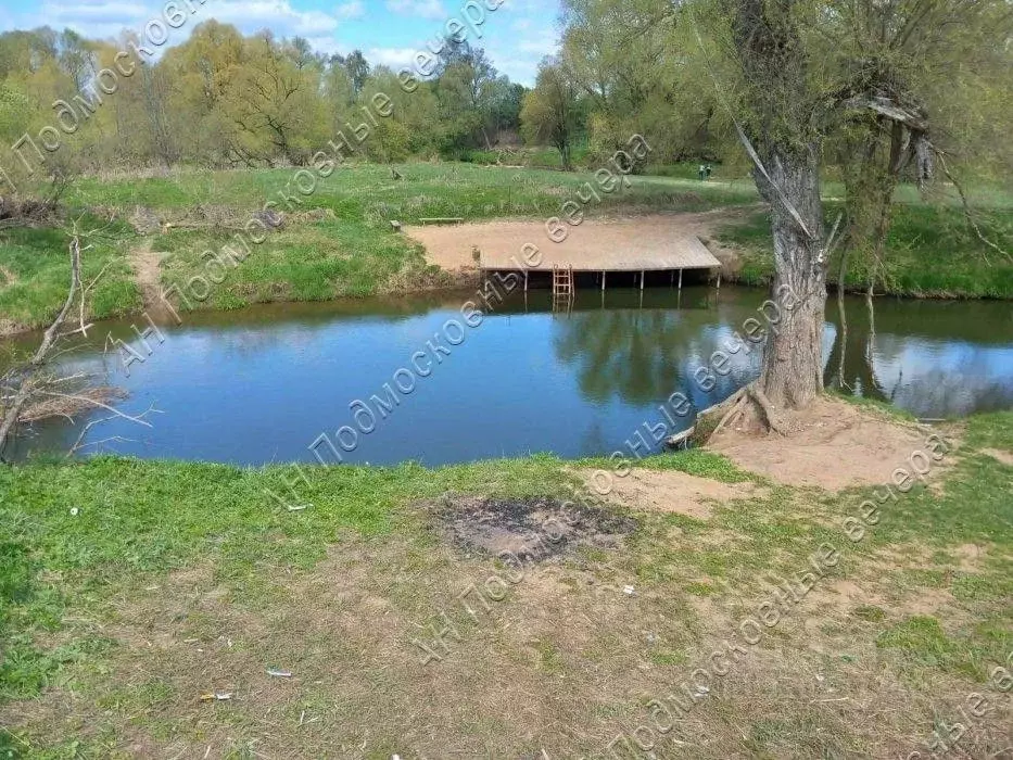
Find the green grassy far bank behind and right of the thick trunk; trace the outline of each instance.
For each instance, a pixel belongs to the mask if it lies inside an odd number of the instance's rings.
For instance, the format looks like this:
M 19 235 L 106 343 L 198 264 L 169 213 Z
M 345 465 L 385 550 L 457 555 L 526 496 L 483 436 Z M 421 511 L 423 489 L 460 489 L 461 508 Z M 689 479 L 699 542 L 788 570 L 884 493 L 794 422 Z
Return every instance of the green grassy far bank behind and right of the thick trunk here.
M 828 224 L 837 210 L 827 208 Z M 992 208 L 979 220 L 983 233 L 1005 251 L 1013 251 L 1013 210 Z M 770 218 L 757 213 L 742 224 L 723 228 L 718 238 L 740 253 L 738 280 L 765 284 L 773 276 Z M 827 274 L 836 286 L 840 273 L 838 250 Z M 984 245 L 953 206 L 898 203 L 887 238 L 883 270 L 850 257 L 845 287 L 862 291 L 875 274 L 876 292 L 914 297 L 1013 299 L 1013 261 Z

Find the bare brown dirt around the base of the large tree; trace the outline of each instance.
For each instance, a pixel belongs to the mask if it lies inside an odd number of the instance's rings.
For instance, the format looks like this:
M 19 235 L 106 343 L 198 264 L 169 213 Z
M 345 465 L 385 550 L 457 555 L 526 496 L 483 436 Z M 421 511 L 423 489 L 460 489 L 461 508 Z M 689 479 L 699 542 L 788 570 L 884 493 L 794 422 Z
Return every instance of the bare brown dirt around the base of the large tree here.
M 828 396 L 784 414 L 782 425 L 785 436 L 725 429 L 707 445 L 745 470 L 827 491 L 890 483 L 897 468 L 912 470 L 915 452 L 930 453 L 928 433 L 913 425 Z M 938 467 L 933 463 L 934 471 Z

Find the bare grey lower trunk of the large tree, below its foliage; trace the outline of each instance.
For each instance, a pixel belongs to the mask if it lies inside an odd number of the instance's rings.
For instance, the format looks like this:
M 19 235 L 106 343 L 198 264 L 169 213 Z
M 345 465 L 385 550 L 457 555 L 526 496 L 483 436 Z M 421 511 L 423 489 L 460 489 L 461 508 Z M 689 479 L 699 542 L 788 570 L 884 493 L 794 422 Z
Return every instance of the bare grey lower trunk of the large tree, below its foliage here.
M 759 388 L 772 405 L 798 409 L 823 391 L 826 262 L 816 149 L 794 154 L 771 150 L 762 163 L 767 174 L 759 168 L 754 174 L 772 208 L 771 300 L 780 307 L 781 321 L 769 331 Z

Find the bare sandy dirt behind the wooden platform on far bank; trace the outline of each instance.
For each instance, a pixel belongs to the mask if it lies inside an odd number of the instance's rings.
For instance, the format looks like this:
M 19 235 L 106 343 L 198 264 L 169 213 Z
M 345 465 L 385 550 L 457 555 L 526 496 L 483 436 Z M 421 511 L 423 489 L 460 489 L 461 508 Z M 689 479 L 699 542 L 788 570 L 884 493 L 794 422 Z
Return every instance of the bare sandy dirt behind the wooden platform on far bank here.
M 615 219 L 587 219 L 575 231 L 574 240 L 581 250 L 622 250 L 631 239 L 657 240 L 663 246 L 672 235 L 696 236 L 721 262 L 724 274 L 731 275 L 739 268 L 739 256 L 733 249 L 720 245 L 714 238 L 716 229 L 727 221 L 743 216 L 754 208 L 719 208 L 695 214 L 653 214 Z M 406 227 L 405 232 L 426 248 L 426 259 L 442 269 L 453 273 L 477 269 L 474 249 L 495 248 L 516 251 L 518 256 L 528 243 L 547 242 L 543 221 L 490 221 L 481 224 L 452 225 L 443 227 Z

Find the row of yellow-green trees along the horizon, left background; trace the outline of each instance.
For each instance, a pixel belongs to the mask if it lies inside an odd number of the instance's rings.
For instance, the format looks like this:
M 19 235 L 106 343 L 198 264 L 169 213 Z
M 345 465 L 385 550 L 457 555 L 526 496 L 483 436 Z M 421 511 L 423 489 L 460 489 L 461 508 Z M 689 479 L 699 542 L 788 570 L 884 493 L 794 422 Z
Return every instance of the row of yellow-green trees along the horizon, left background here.
M 343 127 L 354 128 L 359 109 L 380 92 L 393 114 L 363 143 L 363 157 L 453 159 L 517 135 L 527 92 L 484 50 L 456 38 L 447 38 L 429 76 L 410 91 L 358 50 L 327 55 L 300 37 L 243 36 L 216 21 L 155 62 L 123 61 L 119 50 L 73 30 L 0 35 L 0 153 L 8 172 L 18 168 L 10 145 L 40 130 L 45 137 L 47 125 L 72 117 L 73 134 L 61 135 L 66 149 L 38 151 L 49 172 L 301 165 Z M 114 92 L 98 79 L 103 69 L 119 72 Z M 29 155 L 38 147 L 20 148 Z

